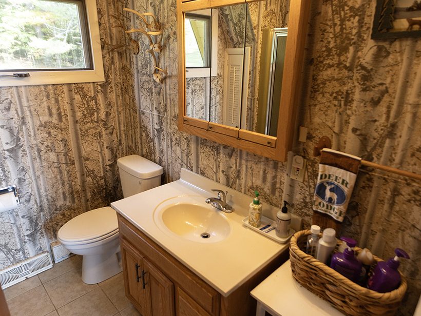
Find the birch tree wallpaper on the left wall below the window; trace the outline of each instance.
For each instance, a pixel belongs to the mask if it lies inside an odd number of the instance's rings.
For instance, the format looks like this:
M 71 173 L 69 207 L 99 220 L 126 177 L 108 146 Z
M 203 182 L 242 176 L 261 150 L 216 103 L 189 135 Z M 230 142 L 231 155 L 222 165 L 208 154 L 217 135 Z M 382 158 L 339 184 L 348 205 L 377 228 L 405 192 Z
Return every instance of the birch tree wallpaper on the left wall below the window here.
M 98 2 L 104 43 L 124 43 L 110 15 L 128 2 Z M 130 21 L 128 21 L 130 22 Z M 122 198 L 117 159 L 139 152 L 128 50 L 103 46 L 106 81 L 0 88 L 0 187 L 21 205 L 0 213 L 0 268 L 48 249 L 74 216 Z

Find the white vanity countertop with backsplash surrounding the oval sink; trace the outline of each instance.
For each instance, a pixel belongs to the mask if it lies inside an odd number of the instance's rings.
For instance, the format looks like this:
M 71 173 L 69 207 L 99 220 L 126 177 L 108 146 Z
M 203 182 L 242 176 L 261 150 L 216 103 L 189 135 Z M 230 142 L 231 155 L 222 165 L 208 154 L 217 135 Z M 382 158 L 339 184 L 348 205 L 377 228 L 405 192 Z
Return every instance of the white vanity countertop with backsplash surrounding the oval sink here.
M 215 196 L 210 189 L 228 191 L 226 200 L 234 207 L 233 213 L 222 213 L 231 225 L 231 233 L 225 240 L 192 242 L 163 231 L 155 223 L 154 210 L 162 201 L 182 195 L 200 195 L 204 199 Z M 251 201 L 250 196 L 183 169 L 180 180 L 113 202 L 111 207 L 227 297 L 262 266 L 288 251 L 289 244 L 274 242 L 242 225 Z M 267 217 L 277 210 L 270 205 L 263 206 Z M 297 218 L 293 222 L 297 225 Z

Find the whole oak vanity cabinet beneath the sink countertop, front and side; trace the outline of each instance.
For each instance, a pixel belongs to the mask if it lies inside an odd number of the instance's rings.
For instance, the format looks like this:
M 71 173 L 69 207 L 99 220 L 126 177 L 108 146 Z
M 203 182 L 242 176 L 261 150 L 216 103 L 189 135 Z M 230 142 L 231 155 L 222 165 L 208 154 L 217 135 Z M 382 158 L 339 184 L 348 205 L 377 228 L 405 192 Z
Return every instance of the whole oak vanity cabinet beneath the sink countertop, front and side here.
M 284 251 L 224 297 L 118 214 L 124 287 L 143 316 L 254 315 L 250 291 L 288 259 Z

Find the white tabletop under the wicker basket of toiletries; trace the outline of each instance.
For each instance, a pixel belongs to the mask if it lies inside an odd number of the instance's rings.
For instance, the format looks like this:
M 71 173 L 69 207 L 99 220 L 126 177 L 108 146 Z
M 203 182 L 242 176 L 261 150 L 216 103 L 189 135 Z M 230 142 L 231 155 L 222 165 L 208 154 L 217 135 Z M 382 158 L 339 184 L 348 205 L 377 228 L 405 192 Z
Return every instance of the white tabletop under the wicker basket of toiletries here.
M 250 293 L 274 316 L 344 316 L 294 280 L 289 260 Z

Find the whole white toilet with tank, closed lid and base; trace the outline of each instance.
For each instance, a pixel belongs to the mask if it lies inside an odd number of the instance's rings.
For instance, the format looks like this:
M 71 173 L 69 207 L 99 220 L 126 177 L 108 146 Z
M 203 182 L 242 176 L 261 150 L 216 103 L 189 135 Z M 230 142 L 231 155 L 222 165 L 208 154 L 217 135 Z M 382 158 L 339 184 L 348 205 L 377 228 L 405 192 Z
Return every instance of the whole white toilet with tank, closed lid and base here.
M 161 185 L 162 167 L 139 155 L 122 157 L 117 165 L 124 198 Z M 117 214 L 111 207 L 76 216 L 59 229 L 57 236 L 67 250 L 83 255 L 83 282 L 99 283 L 122 270 Z

